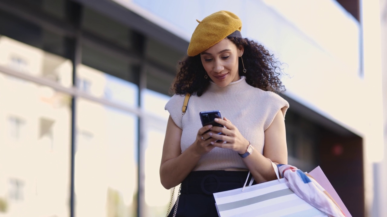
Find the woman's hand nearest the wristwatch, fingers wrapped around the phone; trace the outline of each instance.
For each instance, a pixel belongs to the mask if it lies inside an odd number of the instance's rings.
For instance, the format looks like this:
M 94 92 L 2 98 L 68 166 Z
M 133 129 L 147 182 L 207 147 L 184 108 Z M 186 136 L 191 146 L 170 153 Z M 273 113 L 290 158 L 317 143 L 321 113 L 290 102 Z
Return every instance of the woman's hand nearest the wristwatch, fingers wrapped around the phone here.
M 222 134 L 210 134 L 212 138 L 220 140 L 219 142 L 211 142 L 211 144 L 216 147 L 231 149 L 238 152 L 239 154 L 246 153 L 250 142 L 242 136 L 238 128 L 236 128 L 236 126 L 225 117 L 223 117 L 223 120 L 216 118 L 215 122 L 225 127 L 212 127 L 212 131 L 221 132 Z

